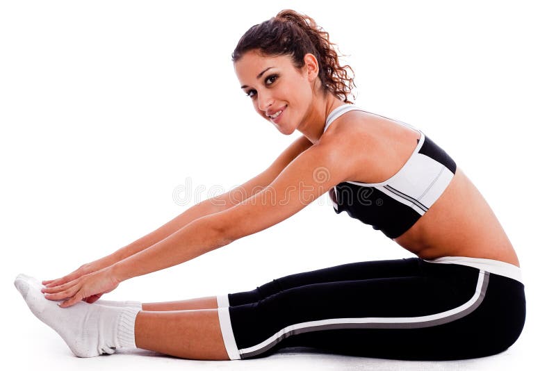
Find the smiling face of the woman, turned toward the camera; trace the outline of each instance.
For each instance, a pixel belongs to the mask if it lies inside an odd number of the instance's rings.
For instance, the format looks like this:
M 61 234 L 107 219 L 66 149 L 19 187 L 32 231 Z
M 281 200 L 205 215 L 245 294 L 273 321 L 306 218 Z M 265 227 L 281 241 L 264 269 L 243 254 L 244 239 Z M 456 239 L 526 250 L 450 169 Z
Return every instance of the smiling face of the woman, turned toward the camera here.
M 318 77 L 316 58 L 306 54 L 305 65 L 298 70 L 290 56 L 262 56 L 253 50 L 236 60 L 234 68 L 256 112 L 281 133 L 293 133 L 313 101 L 313 85 Z

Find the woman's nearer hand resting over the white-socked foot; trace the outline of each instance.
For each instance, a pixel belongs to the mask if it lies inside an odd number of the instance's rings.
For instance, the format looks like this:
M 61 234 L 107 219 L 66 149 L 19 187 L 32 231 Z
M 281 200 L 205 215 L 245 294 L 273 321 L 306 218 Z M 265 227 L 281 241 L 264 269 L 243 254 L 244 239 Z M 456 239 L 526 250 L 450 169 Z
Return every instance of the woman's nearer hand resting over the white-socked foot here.
M 85 274 L 77 279 L 63 283 L 59 286 L 42 288 L 42 292 L 47 295 L 49 300 L 65 300 L 60 303 L 60 307 L 72 306 L 81 300 L 95 302 L 101 295 L 111 292 L 120 284 L 113 274 L 111 267 L 107 267 L 96 272 Z

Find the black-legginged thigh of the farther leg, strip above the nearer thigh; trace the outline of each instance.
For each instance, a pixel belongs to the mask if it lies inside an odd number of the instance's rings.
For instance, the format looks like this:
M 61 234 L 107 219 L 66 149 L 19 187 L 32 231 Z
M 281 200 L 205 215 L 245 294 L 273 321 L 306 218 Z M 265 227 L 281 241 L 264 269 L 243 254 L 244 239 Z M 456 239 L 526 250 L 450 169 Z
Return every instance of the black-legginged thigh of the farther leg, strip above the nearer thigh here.
M 291 288 L 338 281 L 415 277 L 420 275 L 418 258 L 402 258 L 382 261 L 363 261 L 322 268 L 310 272 L 290 274 L 258 286 L 254 290 L 228 295 L 229 305 L 237 306 L 259 302 L 278 292 Z

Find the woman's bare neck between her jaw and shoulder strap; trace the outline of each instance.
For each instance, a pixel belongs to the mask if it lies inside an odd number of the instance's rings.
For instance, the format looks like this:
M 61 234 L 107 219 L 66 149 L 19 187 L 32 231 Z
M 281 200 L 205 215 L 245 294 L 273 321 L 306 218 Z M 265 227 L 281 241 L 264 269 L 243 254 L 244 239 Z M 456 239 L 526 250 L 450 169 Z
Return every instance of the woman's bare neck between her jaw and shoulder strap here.
M 313 106 L 309 107 L 307 115 L 302 120 L 300 126 L 297 126 L 297 130 L 305 135 L 313 145 L 316 144 L 325 131 L 326 118 L 329 113 L 343 104 L 343 101 L 334 97 L 332 93 L 327 92 L 325 99 L 316 99 Z

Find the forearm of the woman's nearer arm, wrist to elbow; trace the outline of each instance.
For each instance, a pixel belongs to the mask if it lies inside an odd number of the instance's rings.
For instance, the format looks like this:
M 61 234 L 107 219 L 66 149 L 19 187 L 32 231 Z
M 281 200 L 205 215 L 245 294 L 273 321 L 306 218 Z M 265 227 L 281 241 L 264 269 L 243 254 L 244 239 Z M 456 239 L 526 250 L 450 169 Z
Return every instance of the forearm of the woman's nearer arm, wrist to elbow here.
M 210 217 L 202 217 L 111 266 L 114 277 L 124 281 L 189 261 L 213 249 L 229 244 Z

